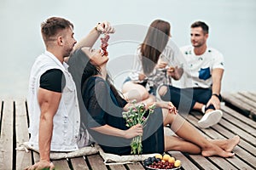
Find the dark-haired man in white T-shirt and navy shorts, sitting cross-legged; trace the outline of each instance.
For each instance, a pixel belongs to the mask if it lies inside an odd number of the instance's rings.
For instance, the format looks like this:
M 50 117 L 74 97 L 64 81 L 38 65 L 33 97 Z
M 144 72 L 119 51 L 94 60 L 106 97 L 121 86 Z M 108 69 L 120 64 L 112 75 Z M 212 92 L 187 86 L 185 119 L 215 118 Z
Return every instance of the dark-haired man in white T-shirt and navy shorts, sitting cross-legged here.
M 181 87 L 162 86 L 160 98 L 172 101 L 180 112 L 201 111 L 204 116 L 199 127 L 217 124 L 223 113 L 220 111 L 221 81 L 224 73 L 224 58 L 214 48 L 207 47 L 209 27 L 196 21 L 191 25 L 191 44 L 181 48 L 185 59 Z

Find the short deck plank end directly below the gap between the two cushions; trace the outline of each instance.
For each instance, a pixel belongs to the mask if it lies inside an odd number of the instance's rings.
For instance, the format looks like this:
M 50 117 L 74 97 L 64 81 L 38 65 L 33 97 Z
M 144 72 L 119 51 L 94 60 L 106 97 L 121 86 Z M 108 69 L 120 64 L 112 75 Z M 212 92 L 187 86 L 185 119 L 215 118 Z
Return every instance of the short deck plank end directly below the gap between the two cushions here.
M 89 161 L 90 167 L 93 170 L 108 169 L 103 162 L 102 156 L 100 155 L 87 156 L 87 160 Z

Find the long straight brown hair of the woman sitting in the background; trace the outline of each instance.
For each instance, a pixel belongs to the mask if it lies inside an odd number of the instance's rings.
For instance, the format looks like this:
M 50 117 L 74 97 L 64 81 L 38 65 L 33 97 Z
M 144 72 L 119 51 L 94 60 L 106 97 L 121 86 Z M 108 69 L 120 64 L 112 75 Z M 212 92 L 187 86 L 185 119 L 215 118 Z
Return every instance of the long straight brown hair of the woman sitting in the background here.
M 160 54 L 166 48 L 170 36 L 170 24 L 164 20 L 154 20 L 148 28 L 141 44 L 143 72 L 148 75 L 154 70 Z

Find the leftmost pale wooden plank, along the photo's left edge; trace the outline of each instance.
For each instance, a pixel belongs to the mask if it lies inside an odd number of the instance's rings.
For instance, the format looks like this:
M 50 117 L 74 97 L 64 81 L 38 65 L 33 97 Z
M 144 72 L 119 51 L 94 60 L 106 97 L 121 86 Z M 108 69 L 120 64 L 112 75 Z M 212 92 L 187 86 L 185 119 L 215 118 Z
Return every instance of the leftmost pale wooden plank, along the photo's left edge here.
M 0 137 L 0 168 L 13 169 L 14 102 L 5 99 Z

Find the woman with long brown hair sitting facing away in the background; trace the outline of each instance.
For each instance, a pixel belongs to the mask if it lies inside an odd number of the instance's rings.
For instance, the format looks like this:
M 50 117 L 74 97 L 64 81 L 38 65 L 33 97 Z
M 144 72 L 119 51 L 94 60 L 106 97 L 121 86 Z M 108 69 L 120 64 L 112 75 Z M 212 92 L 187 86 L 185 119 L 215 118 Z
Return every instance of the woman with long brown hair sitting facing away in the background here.
M 171 41 L 171 26 L 165 20 L 154 20 L 147 35 L 137 48 L 133 71 L 126 78 L 122 92 L 125 99 L 154 100 L 156 88 L 161 84 L 172 85 L 183 74 L 183 55 Z M 179 59 L 178 59 L 179 58 Z

